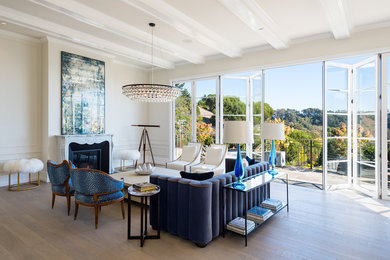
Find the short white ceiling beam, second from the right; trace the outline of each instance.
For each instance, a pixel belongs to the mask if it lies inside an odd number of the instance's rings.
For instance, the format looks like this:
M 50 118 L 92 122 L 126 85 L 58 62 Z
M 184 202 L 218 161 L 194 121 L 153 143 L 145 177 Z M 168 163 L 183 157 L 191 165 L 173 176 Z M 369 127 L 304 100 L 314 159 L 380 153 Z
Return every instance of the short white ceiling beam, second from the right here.
M 283 35 L 279 26 L 256 0 L 219 0 L 219 2 L 275 49 L 288 47 L 290 40 Z

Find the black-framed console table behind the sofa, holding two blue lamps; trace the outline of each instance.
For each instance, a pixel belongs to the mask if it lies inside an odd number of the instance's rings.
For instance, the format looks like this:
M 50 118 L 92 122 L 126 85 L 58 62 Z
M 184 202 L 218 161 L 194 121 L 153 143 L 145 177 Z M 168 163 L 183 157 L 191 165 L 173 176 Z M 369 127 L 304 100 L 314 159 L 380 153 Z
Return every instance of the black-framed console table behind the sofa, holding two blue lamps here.
M 247 177 L 247 178 L 244 178 L 242 179 L 240 182 L 233 182 L 233 183 L 229 183 L 227 185 L 224 186 L 224 189 L 230 189 L 230 190 L 234 190 L 234 191 L 237 191 L 237 192 L 243 192 L 244 193 L 244 218 L 245 218 L 245 246 L 248 245 L 248 234 L 252 231 L 250 231 L 249 233 L 247 232 L 247 226 L 248 226 L 248 216 L 247 216 L 247 212 L 248 212 L 248 193 L 255 189 L 255 188 L 258 188 L 258 187 L 261 187 L 261 186 L 264 186 L 270 182 L 273 182 L 274 180 L 277 180 L 277 179 L 281 179 L 282 177 L 286 177 L 286 202 L 283 203 L 283 206 L 278 209 L 276 212 L 274 212 L 272 214 L 271 217 L 267 218 L 266 220 L 264 220 L 263 222 L 261 223 L 255 223 L 255 228 L 253 230 L 255 230 L 256 228 L 258 228 L 259 226 L 261 226 L 262 224 L 264 224 L 265 222 L 267 222 L 270 218 L 272 218 L 274 215 L 278 214 L 281 210 L 283 210 L 284 208 L 287 208 L 287 212 L 289 211 L 289 205 L 288 205 L 288 173 L 285 173 L 285 172 L 280 172 L 276 175 L 271 175 L 269 174 L 268 172 L 265 172 L 265 173 L 259 173 L 259 174 L 256 174 L 256 175 L 252 175 L 250 177 Z M 222 201 L 224 202 L 223 203 L 223 219 L 225 219 L 225 192 L 222 192 Z M 224 223 L 222 222 L 222 225 L 223 226 L 223 232 L 222 232 L 222 235 L 223 237 L 225 237 L 225 230 L 226 230 L 226 225 L 227 223 Z

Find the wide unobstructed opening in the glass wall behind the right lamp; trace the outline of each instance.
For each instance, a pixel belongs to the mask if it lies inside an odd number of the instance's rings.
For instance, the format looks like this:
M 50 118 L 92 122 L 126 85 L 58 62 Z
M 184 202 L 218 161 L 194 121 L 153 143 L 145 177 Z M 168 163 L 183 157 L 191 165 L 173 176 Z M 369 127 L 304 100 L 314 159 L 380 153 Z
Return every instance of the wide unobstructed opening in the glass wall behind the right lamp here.
M 283 161 L 289 178 L 321 187 L 322 177 L 322 63 L 264 71 L 264 121 L 284 122 L 285 141 L 276 141 L 277 166 Z M 270 140 L 265 141 L 265 157 Z

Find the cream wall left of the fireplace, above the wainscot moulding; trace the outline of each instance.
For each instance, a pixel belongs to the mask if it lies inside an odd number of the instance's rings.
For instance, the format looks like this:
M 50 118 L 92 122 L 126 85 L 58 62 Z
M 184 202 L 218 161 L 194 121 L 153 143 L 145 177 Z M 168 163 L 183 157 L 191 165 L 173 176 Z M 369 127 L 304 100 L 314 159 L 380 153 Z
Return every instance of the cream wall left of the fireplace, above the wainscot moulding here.
M 0 34 L 0 169 L 10 159 L 41 156 L 41 95 L 40 42 Z

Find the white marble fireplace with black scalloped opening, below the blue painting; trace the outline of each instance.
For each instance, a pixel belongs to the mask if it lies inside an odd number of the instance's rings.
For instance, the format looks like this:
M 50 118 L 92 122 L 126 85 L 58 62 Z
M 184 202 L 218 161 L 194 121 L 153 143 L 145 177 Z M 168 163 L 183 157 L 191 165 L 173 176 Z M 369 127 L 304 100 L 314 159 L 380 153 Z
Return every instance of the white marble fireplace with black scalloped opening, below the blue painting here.
M 58 161 L 71 160 L 77 167 L 112 172 L 112 135 L 59 135 Z

